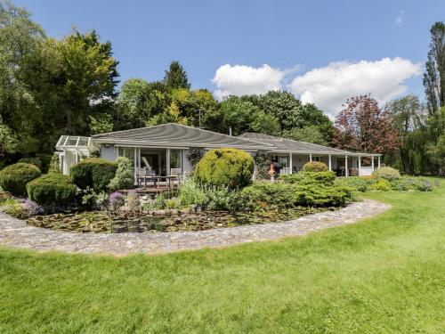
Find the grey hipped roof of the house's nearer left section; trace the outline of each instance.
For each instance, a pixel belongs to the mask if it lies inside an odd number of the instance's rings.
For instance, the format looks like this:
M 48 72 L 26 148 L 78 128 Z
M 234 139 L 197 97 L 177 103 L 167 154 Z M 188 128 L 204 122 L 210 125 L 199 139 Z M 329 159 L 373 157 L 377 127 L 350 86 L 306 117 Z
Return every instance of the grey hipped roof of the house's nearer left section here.
M 269 143 L 256 143 L 212 131 L 176 123 L 160 126 L 141 127 L 108 134 L 94 134 L 93 143 L 114 143 L 121 145 L 161 146 L 161 147 L 233 147 L 243 150 L 272 150 Z

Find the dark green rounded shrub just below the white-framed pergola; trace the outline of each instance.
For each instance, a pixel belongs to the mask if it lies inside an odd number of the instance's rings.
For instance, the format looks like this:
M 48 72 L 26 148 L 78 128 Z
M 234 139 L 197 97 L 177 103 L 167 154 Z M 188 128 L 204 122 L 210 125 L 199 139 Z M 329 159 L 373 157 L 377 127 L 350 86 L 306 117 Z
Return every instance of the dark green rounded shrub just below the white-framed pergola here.
M 115 176 L 117 164 L 107 159 L 88 158 L 71 167 L 73 182 L 81 189 L 93 188 L 94 191 L 107 191 Z

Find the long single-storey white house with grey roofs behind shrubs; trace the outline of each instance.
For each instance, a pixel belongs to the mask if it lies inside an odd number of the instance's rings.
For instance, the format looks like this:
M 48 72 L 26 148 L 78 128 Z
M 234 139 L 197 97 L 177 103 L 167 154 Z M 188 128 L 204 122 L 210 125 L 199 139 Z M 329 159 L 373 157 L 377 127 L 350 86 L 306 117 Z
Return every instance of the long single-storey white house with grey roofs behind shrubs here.
M 190 174 L 193 152 L 218 148 L 236 148 L 252 155 L 266 152 L 271 162 L 279 165 L 282 174 L 298 172 L 308 161 L 323 161 L 330 170 L 344 176 L 370 175 L 375 166 L 380 166 L 380 154 L 342 151 L 267 134 L 231 136 L 168 123 L 94 134 L 92 137 L 62 135 L 56 150 L 63 173 L 69 174 L 70 167 L 88 157 L 93 145 L 100 148 L 101 158 L 114 161 L 117 157 L 126 157 L 134 161 L 135 178 L 142 167 L 149 168 L 156 175 L 170 175 L 173 169 L 183 175 Z

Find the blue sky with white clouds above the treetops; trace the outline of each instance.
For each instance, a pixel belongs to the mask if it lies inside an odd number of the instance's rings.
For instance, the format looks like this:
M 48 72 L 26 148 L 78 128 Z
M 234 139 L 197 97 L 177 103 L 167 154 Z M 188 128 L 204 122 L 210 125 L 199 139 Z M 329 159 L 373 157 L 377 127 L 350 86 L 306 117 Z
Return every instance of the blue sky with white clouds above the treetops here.
M 218 99 L 285 89 L 331 118 L 348 97 L 424 98 L 429 29 L 443 0 L 15 0 L 48 36 L 95 29 L 121 83 L 180 61 Z

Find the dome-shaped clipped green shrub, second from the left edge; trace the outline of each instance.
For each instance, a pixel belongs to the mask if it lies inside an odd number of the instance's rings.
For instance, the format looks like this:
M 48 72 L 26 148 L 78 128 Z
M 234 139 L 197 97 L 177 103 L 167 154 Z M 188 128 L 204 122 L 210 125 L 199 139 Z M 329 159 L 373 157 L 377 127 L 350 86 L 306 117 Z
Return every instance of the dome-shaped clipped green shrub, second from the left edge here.
M 77 188 L 69 175 L 48 174 L 27 184 L 28 198 L 41 205 L 69 204 L 75 199 Z

